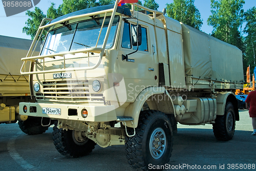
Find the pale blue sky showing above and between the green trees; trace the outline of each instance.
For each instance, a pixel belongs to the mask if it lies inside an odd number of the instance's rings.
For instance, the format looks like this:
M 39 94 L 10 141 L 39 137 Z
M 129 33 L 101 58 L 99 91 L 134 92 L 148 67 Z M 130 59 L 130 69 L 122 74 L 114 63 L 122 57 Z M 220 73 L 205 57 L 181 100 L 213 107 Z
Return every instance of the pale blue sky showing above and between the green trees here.
M 173 3 L 173 0 L 163 1 L 163 0 L 155 0 L 159 4 L 159 11 L 162 11 L 163 8 L 166 7 L 166 3 Z M 62 0 L 41 0 L 36 7 L 40 8 L 44 11 L 44 14 L 47 13 L 47 9 L 51 6 L 51 3 L 56 4 L 56 8 L 62 3 Z M 201 18 L 203 19 L 203 26 L 201 30 L 205 33 L 209 34 L 212 31 L 212 27 L 207 25 L 207 18 L 211 15 L 210 12 L 210 0 L 195 0 L 195 6 L 201 13 Z M 245 4 L 243 9 L 246 11 L 253 6 L 256 6 L 256 0 L 245 0 Z M 30 9 L 31 11 L 34 8 Z M 5 10 L 2 4 L 0 4 L 0 35 L 11 36 L 11 37 L 19 37 L 30 39 L 30 36 L 26 35 L 22 32 L 22 28 L 26 26 L 25 22 L 27 21 L 28 16 L 26 12 L 22 12 L 13 16 L 6 17 Z

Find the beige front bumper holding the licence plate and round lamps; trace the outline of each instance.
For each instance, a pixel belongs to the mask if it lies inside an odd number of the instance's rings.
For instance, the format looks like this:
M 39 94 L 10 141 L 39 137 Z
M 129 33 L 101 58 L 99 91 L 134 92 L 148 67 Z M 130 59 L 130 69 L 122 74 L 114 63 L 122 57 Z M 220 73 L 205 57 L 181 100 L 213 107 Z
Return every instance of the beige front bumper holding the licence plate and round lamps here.
M 28 109 L 26 113 L 23 110 L 25 105 Z M 60 115 L 43 114 L 42 108 L 58 108 L 60 109 Z M 87 118 L 83 118 L 81 115 L 83 109 L 86 109 L 88 111 Z M 20 102 L 19 115 L 91 122 L 108 122 L 117 120 L 114 105 L 79 105 Z

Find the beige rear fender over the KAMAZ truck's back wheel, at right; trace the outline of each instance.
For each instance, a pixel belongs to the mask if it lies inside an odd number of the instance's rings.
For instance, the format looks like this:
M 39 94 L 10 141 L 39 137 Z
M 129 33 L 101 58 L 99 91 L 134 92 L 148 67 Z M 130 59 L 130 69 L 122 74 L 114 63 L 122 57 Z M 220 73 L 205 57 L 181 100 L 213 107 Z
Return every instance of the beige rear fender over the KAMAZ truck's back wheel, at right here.
M 227 101 L 232 102 L 234 106 L 234 112 L 236 113 L 236 120 L 239 121 L 239 112 L 237 98 L 232 92 L 220 92 L 216 94 L 217 98 L 217 115 L 224 115 L 225 105 Z

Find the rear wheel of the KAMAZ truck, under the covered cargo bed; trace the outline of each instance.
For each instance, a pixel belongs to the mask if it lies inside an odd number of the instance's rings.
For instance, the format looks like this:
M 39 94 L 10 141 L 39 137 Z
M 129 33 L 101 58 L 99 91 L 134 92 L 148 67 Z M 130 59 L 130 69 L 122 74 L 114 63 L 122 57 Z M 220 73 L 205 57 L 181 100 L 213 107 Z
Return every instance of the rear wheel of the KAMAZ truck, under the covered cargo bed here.
M 217 140 L 228 141 L 233 138 L 236 118 L 234 107 L 231 102 L 227 102 L 223 116 L 217 115 L 215 123 L 212 124 L 214 135 Z

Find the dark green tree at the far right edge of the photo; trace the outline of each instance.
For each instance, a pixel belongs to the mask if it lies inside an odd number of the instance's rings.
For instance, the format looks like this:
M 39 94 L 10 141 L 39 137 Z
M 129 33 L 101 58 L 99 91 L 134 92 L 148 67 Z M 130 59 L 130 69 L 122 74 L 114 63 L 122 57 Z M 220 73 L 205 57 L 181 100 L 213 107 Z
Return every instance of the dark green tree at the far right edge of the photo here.
M 246 26 L 244 28 L 245 37 L 245 59 L 244 65 L 250 65 L 250 73 L 253 73 L 256 57 L 256 8 L 253 7 L 244 13 Z

